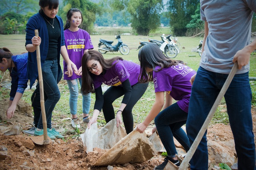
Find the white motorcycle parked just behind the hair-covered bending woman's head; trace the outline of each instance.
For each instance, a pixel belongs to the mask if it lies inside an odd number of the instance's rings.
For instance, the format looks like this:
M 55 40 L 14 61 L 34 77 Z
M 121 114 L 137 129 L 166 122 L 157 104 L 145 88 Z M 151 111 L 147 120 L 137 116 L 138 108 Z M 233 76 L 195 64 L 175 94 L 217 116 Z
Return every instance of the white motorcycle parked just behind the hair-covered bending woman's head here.
M 175 58 L 178 55 L 178 51 L 175 47 L 175 45 L 169 43 L 166 38 L 161 36 L 162 41 L 158 41 L 155 39 L 149 39 L 148 41 L 151 43 L 156 43 L 160 50 L 165 53 L 165 55 L 169 58 Z

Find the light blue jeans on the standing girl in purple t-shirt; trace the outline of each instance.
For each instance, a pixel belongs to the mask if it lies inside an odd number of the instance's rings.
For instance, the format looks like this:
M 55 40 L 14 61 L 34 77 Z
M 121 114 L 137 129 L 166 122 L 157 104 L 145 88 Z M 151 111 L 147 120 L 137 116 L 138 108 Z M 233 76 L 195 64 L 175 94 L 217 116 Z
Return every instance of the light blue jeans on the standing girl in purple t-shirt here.
M 69 106 L 70 106 L 70 113 L 72 115 L 76 115 L 77 113 L 77 100 L 78 100 L 78 94 L 80 92 L 78 88 L 78 80 L 80 83 L 80 86 L 82 85 L 82 78 L 77 78 L 74 80 L 67 80 L 68 82 L 68 88 L 70 92 L 69 96 Z M 83 101 L 82 101 L 82 108 L 83 113 L 88 114 L 90 111 L 90 105 L 91 105 L 91 94 L 82 95 Z

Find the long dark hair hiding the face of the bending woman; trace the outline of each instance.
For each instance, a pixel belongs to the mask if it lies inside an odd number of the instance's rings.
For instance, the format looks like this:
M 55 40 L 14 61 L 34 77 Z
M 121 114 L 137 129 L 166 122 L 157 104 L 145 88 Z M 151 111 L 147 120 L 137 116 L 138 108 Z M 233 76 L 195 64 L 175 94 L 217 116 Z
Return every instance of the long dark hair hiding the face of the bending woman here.
M 155 43 L 148 43 L 140 49 L 139 54 L 140 61 L 140 76 L 139 82 L 153 81 L 153 71 L 146 72 L 146 67 L 153 68 L 154 71 L 160 71 L 162 68 L 178 65 L 183 61 L 172 60 L 166 57 Z M 155 70 L 156 66 L 160 66 Z

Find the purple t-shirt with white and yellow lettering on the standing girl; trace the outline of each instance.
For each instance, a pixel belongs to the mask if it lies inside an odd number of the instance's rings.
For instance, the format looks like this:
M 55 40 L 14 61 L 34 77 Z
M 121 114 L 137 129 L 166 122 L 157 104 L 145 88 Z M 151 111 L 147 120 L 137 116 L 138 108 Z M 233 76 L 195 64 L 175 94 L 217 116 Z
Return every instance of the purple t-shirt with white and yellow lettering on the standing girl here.
M 76 32 L 72 32 L 69 29 L 64 31 L 65 36 L 65 45 L 68 51 L 69 59 L 76 64 L 77 69 L 82 66 L 82 57 L 84 51 L 87 49 L 93 49 L 92 40 L 89 33 L 83 29 L 78 29 Z M 67 71 L 67 64 L 63 61 L 64 72 Z M 76 78 L 81 78 L 76 74 L 73 74 L 71 77 L 64 74 L 64 80 L 74 80 Z

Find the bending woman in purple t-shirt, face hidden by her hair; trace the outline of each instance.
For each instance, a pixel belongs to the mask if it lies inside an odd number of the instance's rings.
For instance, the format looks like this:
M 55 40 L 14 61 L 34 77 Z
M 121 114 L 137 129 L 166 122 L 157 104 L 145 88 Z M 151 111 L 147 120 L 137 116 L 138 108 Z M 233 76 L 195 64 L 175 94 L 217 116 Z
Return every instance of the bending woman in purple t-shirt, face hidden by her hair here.
M 154 82 L 156 99 L 146 119 L 137 126 L 137 130 L 143 133 L 155 119 L 156 127 L 152 132 L 157 129 L 168 154 L 164 162 L 156 166 L 156 170 L 164 169 L 168 160 L 180 166 L 173 137 L 186 151 L 190 149 L 188 136 L 181 127 L 186 124 L 188 117 L 192 87 L 189 80 L 196 72 L 182 64 L 182 61 L 167 58 L 156 44 L 144 45 L 138 57 L 141 67 L 139 82 Z M 177 101 L 174 104 L 173 99 Z

